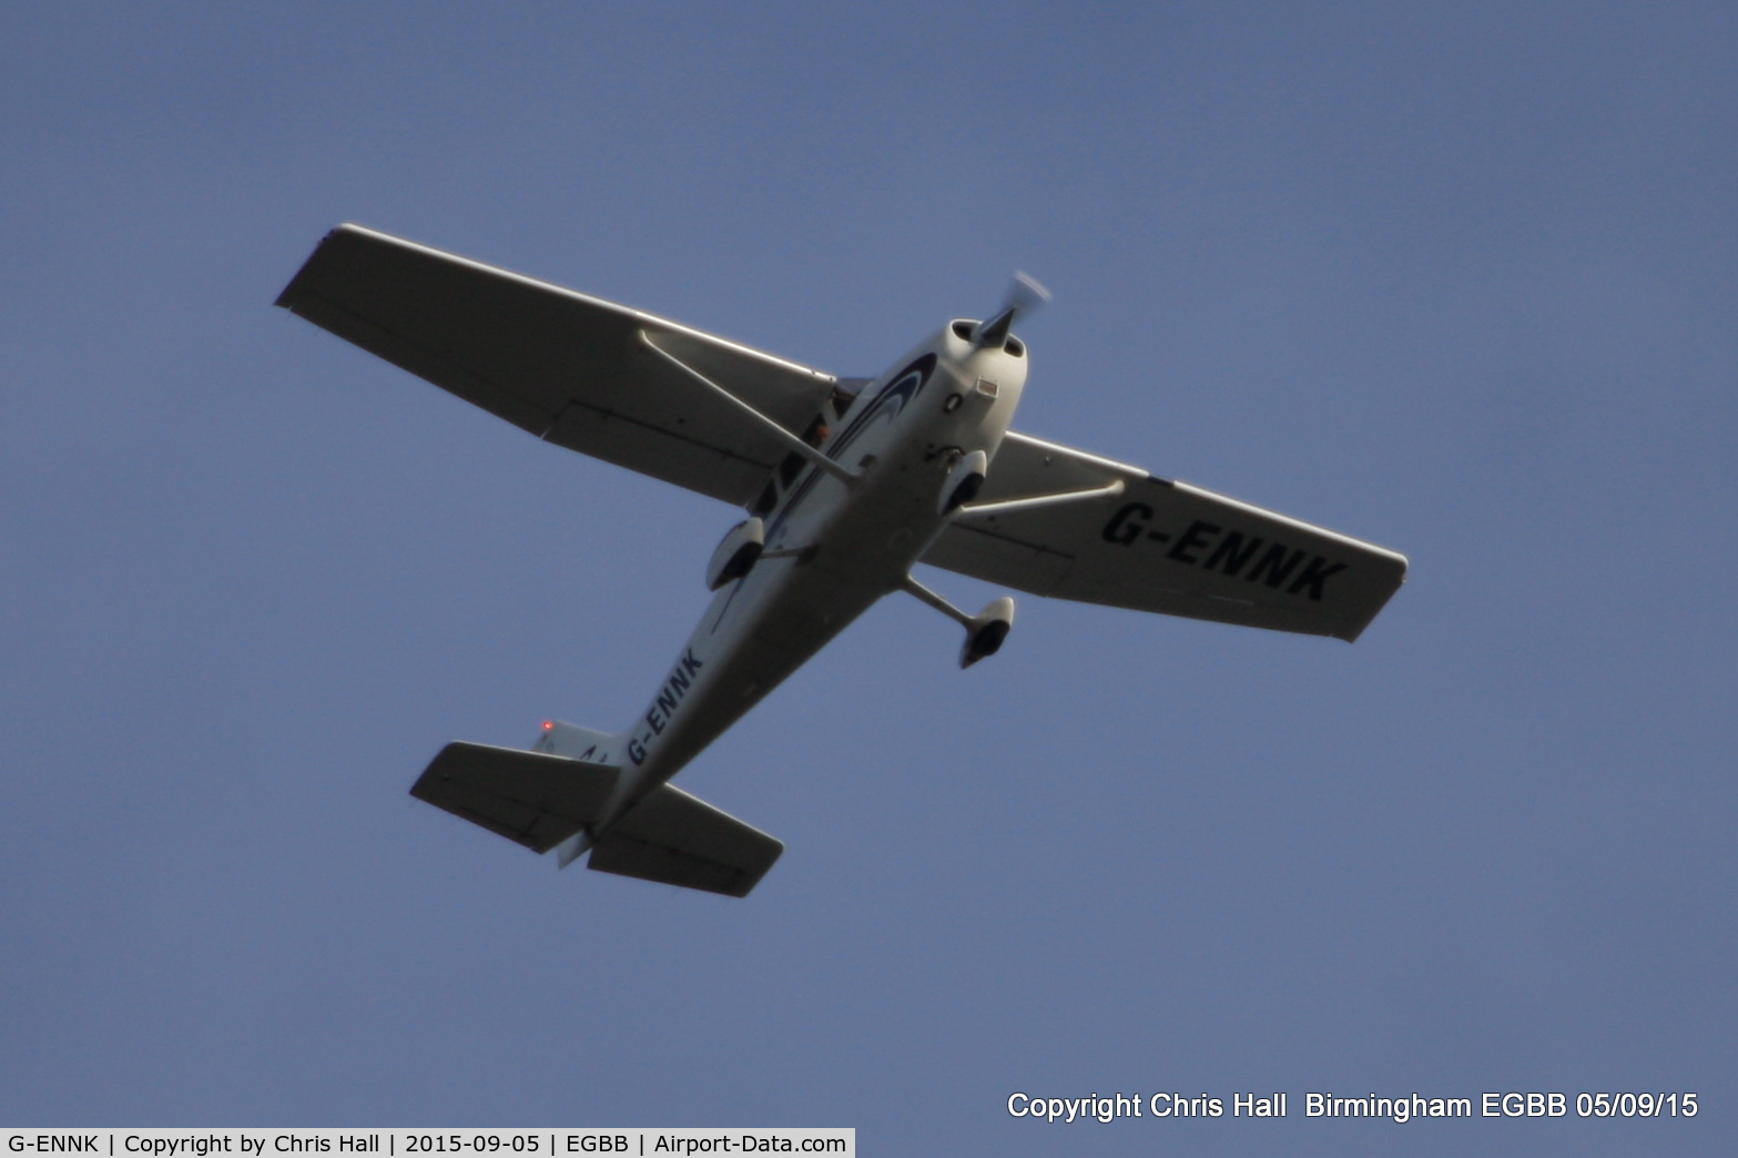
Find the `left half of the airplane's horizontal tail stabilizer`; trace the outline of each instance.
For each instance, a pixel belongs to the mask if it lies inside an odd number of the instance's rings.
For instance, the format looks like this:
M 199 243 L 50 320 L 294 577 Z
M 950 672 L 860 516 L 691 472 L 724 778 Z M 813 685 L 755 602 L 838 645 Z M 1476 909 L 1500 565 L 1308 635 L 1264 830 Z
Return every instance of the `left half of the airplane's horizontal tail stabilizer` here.
M 441 748 L 410 795 L 481 824 L 532 852 L 547 852 L 591 824 L 617 769 L 516 748 Z

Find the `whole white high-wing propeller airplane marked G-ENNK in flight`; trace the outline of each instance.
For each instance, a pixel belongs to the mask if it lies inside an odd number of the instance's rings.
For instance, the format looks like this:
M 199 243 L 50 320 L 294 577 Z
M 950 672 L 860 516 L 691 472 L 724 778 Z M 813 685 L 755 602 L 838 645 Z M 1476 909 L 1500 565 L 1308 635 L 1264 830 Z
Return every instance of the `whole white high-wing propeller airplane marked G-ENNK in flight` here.
M 532 751 L 448 744 L 410 789 L 561 868 L 733 897 L 784 845 L 669 784 L 725 729 L 892 591 L 994 656 L 1013 600 L 968 616 L 923 562 L 1034 595 L 1356 640 L 1406 558 L 1008 429 L 1027 356 L 1017 280 L 881 377 L 822 374 L 674 322 L 346 224 L 278 297 L 339 337 L 572 450 L 747 509 L 645 715 L 544 723 Z

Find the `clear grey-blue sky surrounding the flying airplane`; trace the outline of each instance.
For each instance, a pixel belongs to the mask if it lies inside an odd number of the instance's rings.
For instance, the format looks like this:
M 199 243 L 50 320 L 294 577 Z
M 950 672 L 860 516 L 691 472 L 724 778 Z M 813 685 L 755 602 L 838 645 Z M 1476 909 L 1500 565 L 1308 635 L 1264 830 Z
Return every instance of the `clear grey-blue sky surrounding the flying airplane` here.
M 12 3 L 0 110 L 0 1120 L 1738 1144 L 1733 5 Z M 1411 581 L 968 673 L 886 600 L 683 774 L 749 901 L 556 873 L 407 789 L 626 723 L 735 513 L 273 309 L 339 221 L 838 374 L 1031 270 L 1020 429 Z

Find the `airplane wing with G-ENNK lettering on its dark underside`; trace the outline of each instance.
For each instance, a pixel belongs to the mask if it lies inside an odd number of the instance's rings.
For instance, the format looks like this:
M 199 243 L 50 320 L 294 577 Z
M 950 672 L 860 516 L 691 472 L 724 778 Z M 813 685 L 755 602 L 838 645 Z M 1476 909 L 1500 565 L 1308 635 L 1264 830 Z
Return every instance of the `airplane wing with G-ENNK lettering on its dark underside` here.
M 1074 496 L 1017 506 L 1018 499 Z M 1356 640 L 1406 556 L 1017 435 L 925 563 L 1085 603 Z

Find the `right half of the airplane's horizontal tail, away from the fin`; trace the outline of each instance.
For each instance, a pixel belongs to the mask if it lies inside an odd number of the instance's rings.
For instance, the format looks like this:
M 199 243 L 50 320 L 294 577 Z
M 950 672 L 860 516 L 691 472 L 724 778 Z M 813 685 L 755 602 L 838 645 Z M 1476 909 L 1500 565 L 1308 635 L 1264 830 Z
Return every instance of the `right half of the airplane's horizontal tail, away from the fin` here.
M 758 828 L 664 784 L 610 828 L 587 868 L 746 897 L 782 852 Z

